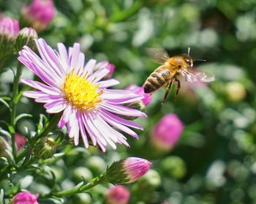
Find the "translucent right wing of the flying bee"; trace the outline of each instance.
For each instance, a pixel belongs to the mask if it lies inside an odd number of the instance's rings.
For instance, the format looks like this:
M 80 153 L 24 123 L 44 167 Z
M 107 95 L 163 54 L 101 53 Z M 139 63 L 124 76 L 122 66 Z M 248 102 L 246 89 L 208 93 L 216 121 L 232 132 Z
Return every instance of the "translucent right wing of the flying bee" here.
M 195 70 L 195 69 L 184 69 L 182 70 L 182 75 L 186 78 L 186 80 L 190 82 L 202 81 L 202 82 L 211 82 L 214 81 L 214 75 L 206 74 L 203 71 Z

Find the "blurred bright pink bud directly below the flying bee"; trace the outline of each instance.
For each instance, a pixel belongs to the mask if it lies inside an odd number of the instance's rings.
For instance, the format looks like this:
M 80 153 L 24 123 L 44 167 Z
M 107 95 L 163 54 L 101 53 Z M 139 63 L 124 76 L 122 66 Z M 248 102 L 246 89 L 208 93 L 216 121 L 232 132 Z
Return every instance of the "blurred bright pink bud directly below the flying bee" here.
M 151 143 L 162 151 L 176 145 L 184 126 L 175 114 L 165 115 L 151 131 Z

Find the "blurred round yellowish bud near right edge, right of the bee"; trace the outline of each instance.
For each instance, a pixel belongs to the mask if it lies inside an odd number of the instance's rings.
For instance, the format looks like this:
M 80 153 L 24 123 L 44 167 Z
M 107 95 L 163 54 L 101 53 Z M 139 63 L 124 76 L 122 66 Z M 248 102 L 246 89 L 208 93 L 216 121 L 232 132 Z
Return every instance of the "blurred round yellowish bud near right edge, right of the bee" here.
M 226 85 L 226 93 L 227 98 L 230 99 L 231 102 L 239 102 L 246 97 L 246 90 L 244 88 L 244 85 L 233 81 L 230 83 L 227 83 Z

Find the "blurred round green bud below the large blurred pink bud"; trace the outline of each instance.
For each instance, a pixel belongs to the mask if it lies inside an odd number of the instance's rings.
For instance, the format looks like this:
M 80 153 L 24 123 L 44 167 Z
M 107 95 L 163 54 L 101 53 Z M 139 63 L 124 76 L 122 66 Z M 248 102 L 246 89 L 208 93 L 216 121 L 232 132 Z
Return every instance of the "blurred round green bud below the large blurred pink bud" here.
M 183 178 L 187 172 L 186 163 L 178 156 L 162 159 L 159 166 L 164 175 L 175 179 Z

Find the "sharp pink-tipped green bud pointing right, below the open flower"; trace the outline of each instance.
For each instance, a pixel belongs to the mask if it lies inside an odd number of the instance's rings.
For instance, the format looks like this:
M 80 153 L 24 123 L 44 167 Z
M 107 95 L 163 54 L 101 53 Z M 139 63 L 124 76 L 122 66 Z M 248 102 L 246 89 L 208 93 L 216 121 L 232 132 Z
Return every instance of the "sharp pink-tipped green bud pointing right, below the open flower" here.
M 106 178 L 112 184 L 129 184 L 148 172 L 151 162 L 138 157 L 121 159 L 108 168 Z

